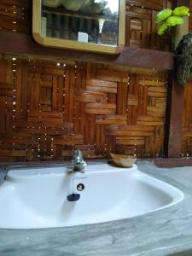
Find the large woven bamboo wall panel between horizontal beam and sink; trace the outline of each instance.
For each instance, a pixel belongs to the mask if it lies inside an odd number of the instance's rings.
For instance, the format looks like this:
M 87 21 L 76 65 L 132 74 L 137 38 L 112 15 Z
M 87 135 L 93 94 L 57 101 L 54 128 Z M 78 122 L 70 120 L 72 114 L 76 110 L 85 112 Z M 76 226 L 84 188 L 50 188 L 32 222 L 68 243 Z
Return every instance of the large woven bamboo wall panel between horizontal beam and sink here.
M 165 73 L 10 58 L 0 72 L 0 160 L 163 155 Z

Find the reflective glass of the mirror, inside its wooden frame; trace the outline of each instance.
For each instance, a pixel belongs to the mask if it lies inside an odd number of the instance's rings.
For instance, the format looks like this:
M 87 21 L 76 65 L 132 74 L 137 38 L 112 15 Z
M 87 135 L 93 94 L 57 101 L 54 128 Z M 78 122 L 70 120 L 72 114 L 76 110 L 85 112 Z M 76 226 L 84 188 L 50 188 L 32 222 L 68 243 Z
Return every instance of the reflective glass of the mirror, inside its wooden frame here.
M 43 0 L 41 36 L 118 45 L 119 0 Z

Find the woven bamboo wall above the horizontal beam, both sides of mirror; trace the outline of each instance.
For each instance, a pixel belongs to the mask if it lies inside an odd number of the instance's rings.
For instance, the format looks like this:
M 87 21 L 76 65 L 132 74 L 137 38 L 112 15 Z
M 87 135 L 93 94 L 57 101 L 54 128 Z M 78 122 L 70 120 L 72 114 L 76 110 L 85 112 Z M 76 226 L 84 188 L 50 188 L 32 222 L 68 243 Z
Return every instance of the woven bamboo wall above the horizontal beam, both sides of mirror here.
M 159 37 L 155 16 L 160 9 L 170 7 L 168 0 L 126 1 L 125 45 L 146 49 L 170 49 L 170 37 Z M 0 0 L 0 29 L 32 33 L 32 2 Z

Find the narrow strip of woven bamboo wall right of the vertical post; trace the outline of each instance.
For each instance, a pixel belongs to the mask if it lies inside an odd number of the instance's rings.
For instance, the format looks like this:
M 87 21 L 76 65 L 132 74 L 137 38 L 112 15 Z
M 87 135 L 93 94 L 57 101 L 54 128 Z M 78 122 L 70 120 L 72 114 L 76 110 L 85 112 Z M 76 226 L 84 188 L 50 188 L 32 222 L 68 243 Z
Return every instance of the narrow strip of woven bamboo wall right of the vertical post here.
M 192 156 L 192 81 L 185 87 L 184 91 L 184 111 L 183 111 L 183 156 Z

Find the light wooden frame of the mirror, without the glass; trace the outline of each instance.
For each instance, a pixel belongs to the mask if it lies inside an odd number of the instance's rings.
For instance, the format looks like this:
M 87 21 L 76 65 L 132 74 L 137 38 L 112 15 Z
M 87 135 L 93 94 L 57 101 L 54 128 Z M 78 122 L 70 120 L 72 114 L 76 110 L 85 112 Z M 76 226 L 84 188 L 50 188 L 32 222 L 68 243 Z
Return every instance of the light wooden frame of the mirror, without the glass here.
M 125 45 L 125 0 L 119 0 L 119 34 L 118 45 L 84 43 L 62 38 L 43 38 L 41 36 L 41 7 L 42 0 L 32 3 L 32 35 L 38 44 L 65 49 L 100 52 L 105 54 L 119 54 Z

